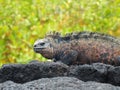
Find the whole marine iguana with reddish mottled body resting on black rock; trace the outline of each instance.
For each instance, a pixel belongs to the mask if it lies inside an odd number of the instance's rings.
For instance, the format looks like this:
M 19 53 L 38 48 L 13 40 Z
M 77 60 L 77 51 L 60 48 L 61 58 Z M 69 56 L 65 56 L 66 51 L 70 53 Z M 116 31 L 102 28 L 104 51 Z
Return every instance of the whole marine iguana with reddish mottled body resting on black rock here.
M 54 32 L 35 41 L 34 51 L 67 65 L 96 62 L 120 65 L 120 40 L 95 32 L 68 33 L 65 36 Z

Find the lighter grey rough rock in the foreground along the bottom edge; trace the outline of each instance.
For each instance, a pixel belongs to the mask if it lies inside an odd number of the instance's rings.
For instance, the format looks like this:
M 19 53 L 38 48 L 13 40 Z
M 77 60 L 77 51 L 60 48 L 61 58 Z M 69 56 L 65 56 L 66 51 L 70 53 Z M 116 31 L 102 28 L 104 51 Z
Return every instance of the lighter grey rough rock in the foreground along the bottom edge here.
M 74 77 L 42 78 L 25 84 L 7 81 L 0 84 L 0 90 L 120 90 L 110 84 L 83 82 Z

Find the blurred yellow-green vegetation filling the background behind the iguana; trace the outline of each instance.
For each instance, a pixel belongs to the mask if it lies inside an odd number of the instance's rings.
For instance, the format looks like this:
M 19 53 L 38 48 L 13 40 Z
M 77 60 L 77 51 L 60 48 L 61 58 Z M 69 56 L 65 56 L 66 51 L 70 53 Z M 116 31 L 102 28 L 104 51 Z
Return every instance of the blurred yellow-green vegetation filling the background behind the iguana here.
M 44 61 L 33 43 L 49 31 L 120 36 L 120 0 L 0 0 L 0 65 Z

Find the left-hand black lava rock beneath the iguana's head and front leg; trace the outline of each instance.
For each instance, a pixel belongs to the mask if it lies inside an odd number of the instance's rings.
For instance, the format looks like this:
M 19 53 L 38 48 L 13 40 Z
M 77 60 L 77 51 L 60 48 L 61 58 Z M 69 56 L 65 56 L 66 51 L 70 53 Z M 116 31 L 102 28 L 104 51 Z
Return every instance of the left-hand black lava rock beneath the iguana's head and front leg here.
M 65 76 L 68 66 L 62 63 L 9 64 L 0 69 L 0 82 L 7 80 L 25 83 L 40 78 Z

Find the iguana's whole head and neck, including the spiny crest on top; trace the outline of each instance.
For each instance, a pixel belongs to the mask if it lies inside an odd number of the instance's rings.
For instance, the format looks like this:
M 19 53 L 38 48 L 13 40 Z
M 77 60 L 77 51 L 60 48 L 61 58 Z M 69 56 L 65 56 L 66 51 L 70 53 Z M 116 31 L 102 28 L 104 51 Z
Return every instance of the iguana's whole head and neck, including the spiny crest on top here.
M 35 41 L 34 51 L 45 58 L 52 59 L 61 50 L 60 48 L 64 48 L 64 43 L 69 42 L 70 39 L 70 35 L 62 37 L 60 33 L 52 32 L 47 34 L 44 39 Z

